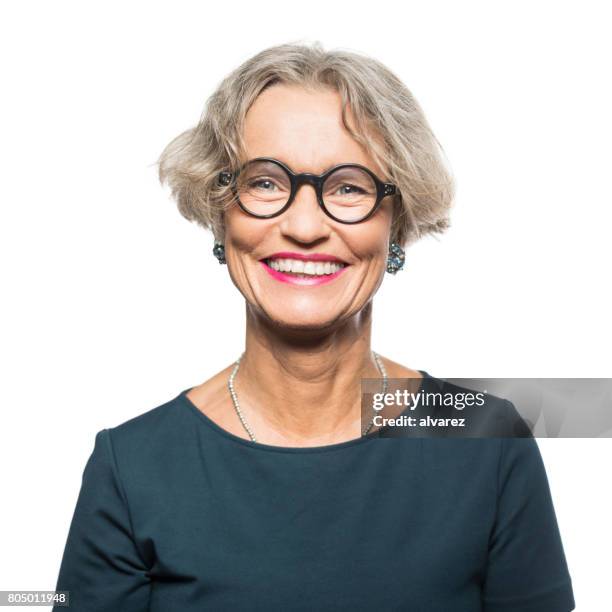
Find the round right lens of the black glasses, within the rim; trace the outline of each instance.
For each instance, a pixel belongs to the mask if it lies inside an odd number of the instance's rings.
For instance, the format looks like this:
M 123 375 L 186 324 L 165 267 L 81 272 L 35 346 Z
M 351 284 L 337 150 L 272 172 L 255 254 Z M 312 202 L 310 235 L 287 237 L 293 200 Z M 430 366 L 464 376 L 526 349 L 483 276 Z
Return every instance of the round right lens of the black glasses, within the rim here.
M 341 221 L 358 221 L 376 204 L 374 179 L 361 168 L 338 168 L 323 184 L 325 208 Z

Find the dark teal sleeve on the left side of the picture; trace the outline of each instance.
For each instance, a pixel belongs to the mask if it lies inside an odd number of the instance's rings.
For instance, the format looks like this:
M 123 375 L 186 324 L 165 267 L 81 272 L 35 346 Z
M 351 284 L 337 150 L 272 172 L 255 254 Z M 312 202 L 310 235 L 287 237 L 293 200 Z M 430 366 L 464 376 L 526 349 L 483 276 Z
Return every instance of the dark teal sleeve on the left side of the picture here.
M 85 465 L 56 591 L 69 591 L 69 606 L 79 612 L 149 608 L 150 579 L 134 543 L 107 429 L 96 434 Z

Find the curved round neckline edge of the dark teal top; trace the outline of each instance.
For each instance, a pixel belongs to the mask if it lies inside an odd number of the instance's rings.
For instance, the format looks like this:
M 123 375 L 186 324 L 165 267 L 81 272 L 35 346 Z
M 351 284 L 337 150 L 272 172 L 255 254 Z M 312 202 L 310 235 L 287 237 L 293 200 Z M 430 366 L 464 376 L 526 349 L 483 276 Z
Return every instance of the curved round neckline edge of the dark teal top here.
M 421 375 L 421 384 L 419 385 L 419 389 L 417 393 L 421 392 L 425 387 L 425 382 L 427 380 L 432 379 L 433 377 L 428 374 L 425 370 L 417 370 Z M 207 425 L 214 432 L 221 434 L 223 437 L 231 440 L 232 442 L 236 442 L 238 444 L 242 444 L 248 448 L 252 448 L 255 450 L 261 451 L 269 451 L 276 453 L 325 453 L 330 451 L 342 450 L 344 448 L 351 448 L 353 446 L 357 446 L 359 444 L 365 444 L 369 440 L 373 440 L 380 437 L 380 432 L 386 427 L 382 427 L 372 433 L 368 433 L 365 436 L 359 436 L 358 438 L 353 438 L 352 440 L 345 440 L 344 442 L 336 442 L 335 444 L 323 444 L 320 446 L 279 446 L 276 444 L 264 444 L 263 442 L 254 442 L 253 440 L 247 440 L 246 438 L 241 438 L 236 434 L 233 434 L 231 431 L 224 429 L 220 425 L 218 425 L 215 421 L 213 421 L 209 416 L 204 414 L 192 401 L 189 397 L 187 397 L 187 393 L 191 391 L 194 387 L 188 387 L 187 389 L 183 389 L 175 398 L 178 400 L 182 406 L 187 408 L 190 412 L 195 413 L 196 416 L 200 418 L 200 420 Z M 404 411 L 400 413 L 399 416 L 404 415 L 406 412 L 410 410 L 410 407 L 407 407 Z

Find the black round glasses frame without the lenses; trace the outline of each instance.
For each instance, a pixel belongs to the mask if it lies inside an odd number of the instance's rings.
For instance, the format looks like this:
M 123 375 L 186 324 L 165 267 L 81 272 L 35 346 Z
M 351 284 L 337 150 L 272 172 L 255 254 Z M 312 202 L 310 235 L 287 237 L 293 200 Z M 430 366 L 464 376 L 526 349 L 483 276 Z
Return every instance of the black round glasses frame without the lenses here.
M 381 181 L 376 176 L 376 174 L 372 172 L 372 170 L 360 164 L 351 164 L 351 163 L 337 164 L 336 166 L 332 166 L 331 168 L 329 168 L 329 170 L 326 170 L 323 174 L 312 174 L 311 172 L 302 172 L 300 174 L 296 174 L 295 172 L 293 172 L 293 170 L 291 170 L 291 168 L 289 168 L 286 164 L 279 161 L 278 159 L 274 159 L 273 157 L 256 157 L 246 162 L 243 168 L 246 167 L 247 164 L 250 164 L 252 162 L 257 162 L 257 161 L 265 161 L 265 162 L 271 162 L 273 164 L 276 164 L 277 166 L 280 166 L 280 168 L 282 168 L 287 174 L 287 176 L 289 177 L 289 181 L 291 184 L 291 192 L 289 194 L 289 199 L 287 200 L 287 203 L 280 210 L 274 213 L 270 213 L 268 215 L 257 215 L 251 212 L 250 210 L 248 210 L 247 208 L 245 208 L 244 204 L 240 201 L 240 198 L 238 197 L 238 190 L 236 189 L 236 179 L 238 178 L 238 175 L 240 174 L 240 170 L 234 173 L 223 171 L 223 172 L 220 172 L 218 176 L 218 181 L 220 185 L 223 185 L 223 186 L 231 185 L 232 190 L 234 192 L 234 196 L 236 197 L 236 201 L 238 202 L 238 206 L 240 206 L 240 208 L 245 213 L 257 219 L 272 219 L 274 217 L 278 217 L 279 215 L 282 215 L 289 208 L 289 206 L 291 206 L 291 204 L 295 200 L 295 196 L 297 195 L 298 189 L 302 185 L 312 185 L 314 187 L 315 192 L 317 194 L 317 201 L 319 203 L 319 207 L 330 219 L 333 219 L 334 221 L 337 221 L 338 223 L 344 223 L 347 225 L 353 225 L 355 223 L 362 223 L 363 221 L 366 221 L 378 210 L 384 198 L 390 195 L 395 195 L 397 193 L 396 185 L 394 185 L 393 183 L 386 183 L 384 181 Z M 374 185 L 376 186 L 376 202 L 374 203 L 374 205 L 372 206 L 372 209 L 368 212 L 368 214 L 361 217 L 361 219 L 357 219 L 353 221 L 345 221 L 343 219 L 338 219 L 325 207 L 325 203 L 323 201 L 323 184 L 325 183 L 325 181 L 331 174 L 333 174 L 334 172 L 336 172 L 337 170 L 341 168 L 359 168 L 360 170 L 363 170 L 370 176 L 370 178 L 374 181 Z

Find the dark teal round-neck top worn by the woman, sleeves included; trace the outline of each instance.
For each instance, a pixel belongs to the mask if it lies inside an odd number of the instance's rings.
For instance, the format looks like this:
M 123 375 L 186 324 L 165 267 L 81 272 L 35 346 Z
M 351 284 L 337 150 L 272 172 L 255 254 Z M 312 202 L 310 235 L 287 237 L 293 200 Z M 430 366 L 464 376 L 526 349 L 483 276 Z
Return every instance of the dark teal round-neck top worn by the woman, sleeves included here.
M 188 391 L 97 433 L 56 586 L 69 609 L 574 609 L 533 438 L 279 447 Z

